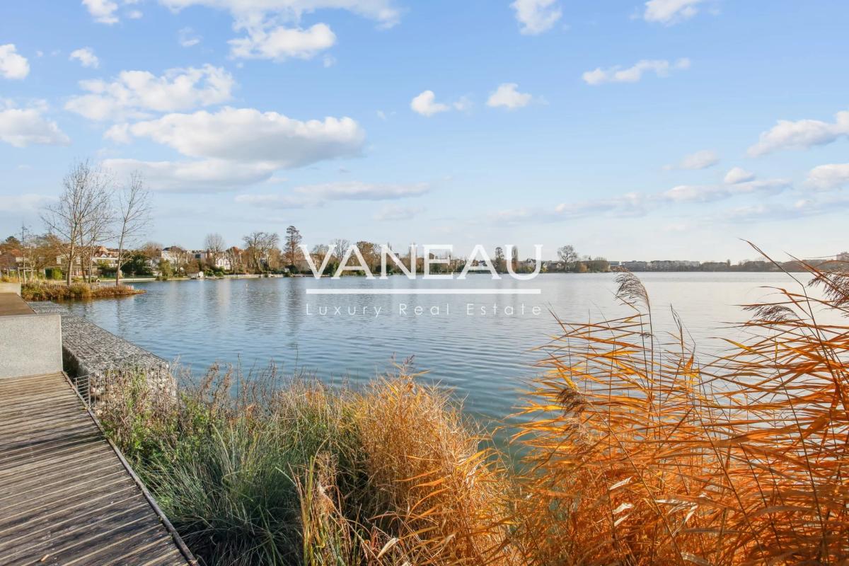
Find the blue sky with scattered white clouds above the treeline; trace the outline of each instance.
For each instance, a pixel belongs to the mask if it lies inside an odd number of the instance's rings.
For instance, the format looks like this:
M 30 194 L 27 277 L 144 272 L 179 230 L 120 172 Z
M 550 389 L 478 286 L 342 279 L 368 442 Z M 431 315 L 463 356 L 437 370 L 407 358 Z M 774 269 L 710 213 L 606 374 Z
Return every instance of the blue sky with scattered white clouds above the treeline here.
M 460 253 L 833 255 L 847 25 L 837 0 L 3 3 L 0 235 L 42 229 L 91 158 L 143 172 L 166 245 L 295 224 Z

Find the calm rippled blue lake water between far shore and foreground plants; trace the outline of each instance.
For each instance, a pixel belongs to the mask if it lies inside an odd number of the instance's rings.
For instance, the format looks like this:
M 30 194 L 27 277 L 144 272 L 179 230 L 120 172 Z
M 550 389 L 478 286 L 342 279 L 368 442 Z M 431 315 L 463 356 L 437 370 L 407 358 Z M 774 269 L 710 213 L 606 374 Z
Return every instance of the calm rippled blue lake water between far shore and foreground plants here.
M 673 305 L 701 351 L 734 332 L 746 313 L 737 305 L 788 287 L 775 273 L 644 273 L 657 330 L 672 330 Z M 807 277 L 805 277 L 807 279 Z M 71 311 L 168 360 L 201 372 L 215 361 L 243 368 L 275 361 L 320 378 L 357 384 L 414 356 L 417 370 L 453 388 L 478 417 L 512 412 L 522 380 L 541 356 L 533 348 L 557 331 L 551 312 L 568 322 L 624 314 L 614 274 L 542 274 L 529 282 L 488 275 L 466 281 L 390 277 L 312 277 L 137 283 L 147 291 L 119 300 L 75 303 Z M 521 295 L 317 295 L 307 289 L 541 289 Z M 470 306 L 469 306 L 470 305 Z M 493 312 L 493 305 L 494 312 Z M 416 314 L 416 307 L 422 313 Z M 512 307 L 512 308 L 509 308 Z M 338 311 L 336 310 L 338 308 Z M 380 310 L 380 312 L 378 312 Z M 320 313 L 327 312 L 322 315 Z M 537 314 L 538 313 L 538 314 Z

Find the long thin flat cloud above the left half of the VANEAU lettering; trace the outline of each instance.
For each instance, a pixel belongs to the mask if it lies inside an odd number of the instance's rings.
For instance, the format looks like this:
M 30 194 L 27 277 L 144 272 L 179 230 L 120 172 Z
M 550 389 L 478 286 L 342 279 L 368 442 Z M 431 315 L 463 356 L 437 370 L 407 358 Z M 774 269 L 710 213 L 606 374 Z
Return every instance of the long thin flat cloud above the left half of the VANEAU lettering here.
M 291 193 L 240 194 L 236 202 L 269 208 L 304 208 L 339 200 L 396 200 L 419 197 L 430 191 L 427 183 L 395 184 L 368 182 L 329 182 L 303 185 Z

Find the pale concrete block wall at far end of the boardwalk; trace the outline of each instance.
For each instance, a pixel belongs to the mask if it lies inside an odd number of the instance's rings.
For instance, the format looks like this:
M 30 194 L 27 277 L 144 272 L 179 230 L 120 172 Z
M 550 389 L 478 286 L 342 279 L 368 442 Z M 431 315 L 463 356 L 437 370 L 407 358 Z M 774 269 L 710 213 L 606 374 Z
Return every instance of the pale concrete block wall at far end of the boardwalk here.
M 62 371 L 62 317 L 0 317 L 0 378 Z

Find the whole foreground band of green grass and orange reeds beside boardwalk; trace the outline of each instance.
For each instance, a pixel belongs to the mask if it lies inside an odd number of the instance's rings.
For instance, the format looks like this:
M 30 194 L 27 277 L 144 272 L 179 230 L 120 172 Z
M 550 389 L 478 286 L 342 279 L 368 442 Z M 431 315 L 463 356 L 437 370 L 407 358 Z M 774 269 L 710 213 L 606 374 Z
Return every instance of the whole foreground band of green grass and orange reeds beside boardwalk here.
M 633 313 L 561 322 L 515 450 L 404 365 L 359 390 L 212 367 L 177 398 L 130 376 L 102 419 L 210 566 L 845 563 L 849 325 L 818 317 L 849 317 L 849 271 L 808 271 L 710 360 L 617 275 Z

